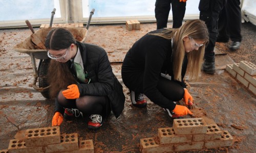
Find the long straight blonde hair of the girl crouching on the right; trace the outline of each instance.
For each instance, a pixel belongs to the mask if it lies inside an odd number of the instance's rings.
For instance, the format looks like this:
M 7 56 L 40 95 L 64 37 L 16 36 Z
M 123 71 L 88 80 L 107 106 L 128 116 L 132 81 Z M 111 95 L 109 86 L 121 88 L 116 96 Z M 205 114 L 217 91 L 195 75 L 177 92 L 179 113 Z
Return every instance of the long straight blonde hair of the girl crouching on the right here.
M 183 38 L 185 36 L 190 36 L 195 40 L 205 41 L 202 47 L 195 52 L 191 51 L 187 54 L 188 65 L 186 74 L 188 79 L 198 79 L 201 72 L 201 66 L 204 57 L 205 45 L 208 43 L 209 34 L 204 21 L 195 19 L 186 21 L 178 29 L 165 29 L 161 33 L 155 33 L 152 35 L 160 36 L 165 39 L 173 39 L 173 71 L 174 80 L 181 81 L 181 69 L 182 63 L 185 56 L 185 48 L 183 44 Z

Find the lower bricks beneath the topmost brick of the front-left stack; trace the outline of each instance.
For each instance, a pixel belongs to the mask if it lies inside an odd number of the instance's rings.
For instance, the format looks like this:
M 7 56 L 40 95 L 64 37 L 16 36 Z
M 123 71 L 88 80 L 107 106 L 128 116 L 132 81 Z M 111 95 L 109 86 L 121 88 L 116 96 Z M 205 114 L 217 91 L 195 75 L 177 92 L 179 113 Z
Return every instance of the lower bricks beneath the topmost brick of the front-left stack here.
M 9 153 L 22 153 L 22 152 L 94 152 L 94 146 L 92 140 L 79 141 L 76 133 L 63 134 L 60 136 L 60 143 L 31 146 L 28 147 L 24 139 L 13 139 L 10 140 L 8 147 Z

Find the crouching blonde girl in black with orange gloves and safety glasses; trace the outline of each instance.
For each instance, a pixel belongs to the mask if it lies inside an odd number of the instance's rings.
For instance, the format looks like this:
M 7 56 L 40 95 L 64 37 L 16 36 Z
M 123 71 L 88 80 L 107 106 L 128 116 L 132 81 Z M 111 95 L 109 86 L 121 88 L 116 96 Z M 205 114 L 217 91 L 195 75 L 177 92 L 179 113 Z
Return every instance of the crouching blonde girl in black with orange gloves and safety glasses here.
M 134 43 L 122 65 L 122 79 L 130 89 L 133 106 L 146 107 L 146 95 L 172 117 L 191 114 L 186 106 L 176 105 L 183 98 L 193 105 L 184 83 L 198 79 L 208 31 L 202 20 L 189 20 L 179 29 L 152 31 Z

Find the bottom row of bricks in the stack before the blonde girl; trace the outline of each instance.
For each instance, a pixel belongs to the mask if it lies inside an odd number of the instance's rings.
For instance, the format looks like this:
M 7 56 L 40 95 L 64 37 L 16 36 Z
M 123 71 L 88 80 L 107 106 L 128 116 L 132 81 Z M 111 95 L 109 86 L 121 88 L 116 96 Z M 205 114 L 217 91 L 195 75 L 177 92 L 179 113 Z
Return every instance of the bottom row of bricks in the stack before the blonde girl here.
M 176 139 L 178 140 L 178 139 Z M 199 150 L 207 148 L 218 148 L 231 146 L 233 143 L 232 136 L 227 131 L 222 131 L 221 138 L 219 140 L 208 141 L 195 141 L 195 142 L 183 142 L 183 143 L 166 143 L 159 144 L 155 138 L 140 139 L 141 152 L 153 153 L 153 152 L 176 152 L 185 150 Z

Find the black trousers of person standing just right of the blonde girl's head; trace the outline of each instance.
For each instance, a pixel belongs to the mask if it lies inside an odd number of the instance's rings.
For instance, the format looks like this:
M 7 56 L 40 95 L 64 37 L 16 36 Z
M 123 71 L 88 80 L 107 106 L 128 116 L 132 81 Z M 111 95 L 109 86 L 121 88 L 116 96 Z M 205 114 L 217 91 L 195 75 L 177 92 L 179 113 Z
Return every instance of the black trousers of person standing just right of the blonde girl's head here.
M 218 34 L 218 18 L 227 0 L 200 0 L 200 19 L 205 22 L 209 31 L 209 43 L 205 48 L 204 59 L 215 62 L 214 47 Z

